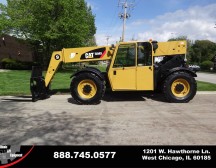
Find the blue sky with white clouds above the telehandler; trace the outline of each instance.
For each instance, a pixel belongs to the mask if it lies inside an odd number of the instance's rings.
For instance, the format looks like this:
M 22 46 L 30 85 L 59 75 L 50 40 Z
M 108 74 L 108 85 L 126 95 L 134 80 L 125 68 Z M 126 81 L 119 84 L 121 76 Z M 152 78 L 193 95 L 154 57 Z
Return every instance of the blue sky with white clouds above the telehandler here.
M 125 41 L 167 41 L 187 36 L 216 42 L 216 0 L 86 0 L 95 15 L 98 45 L 120 40 L 123 20 L 119 14 L 125 1 L 131 6 L 127 8 L 130 17 L 126 20 Z

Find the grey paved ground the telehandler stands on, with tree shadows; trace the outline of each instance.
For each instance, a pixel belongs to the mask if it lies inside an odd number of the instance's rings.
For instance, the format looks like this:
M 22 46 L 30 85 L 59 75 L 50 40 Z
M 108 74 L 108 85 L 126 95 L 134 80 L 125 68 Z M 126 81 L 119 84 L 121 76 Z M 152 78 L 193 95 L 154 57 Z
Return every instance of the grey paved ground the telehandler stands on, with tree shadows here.
M 186 104 L 162 96 L 105 96 L 77 105 L 70 95 L 36 103 L 0 97 L 0 144 L 25 145 L 215 145 L 216 93 Z

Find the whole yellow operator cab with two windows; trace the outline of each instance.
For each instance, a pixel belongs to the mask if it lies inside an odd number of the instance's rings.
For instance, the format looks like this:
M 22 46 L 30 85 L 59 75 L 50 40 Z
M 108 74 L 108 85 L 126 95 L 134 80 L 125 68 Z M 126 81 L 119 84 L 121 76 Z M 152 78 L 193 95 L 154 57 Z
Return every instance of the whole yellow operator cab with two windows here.
M 111 62 L 108 77 L 114 90 L 153 90 L 152 44 L 120 43 Z

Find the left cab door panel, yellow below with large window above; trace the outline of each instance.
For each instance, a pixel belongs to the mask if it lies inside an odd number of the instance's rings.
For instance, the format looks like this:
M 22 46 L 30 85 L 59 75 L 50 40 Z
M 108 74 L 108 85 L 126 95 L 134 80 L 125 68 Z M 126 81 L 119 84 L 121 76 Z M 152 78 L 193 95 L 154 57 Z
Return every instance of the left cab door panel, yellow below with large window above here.
M 108 72 L 113 91 L 136 90 L 136 43 L 122 43 Z

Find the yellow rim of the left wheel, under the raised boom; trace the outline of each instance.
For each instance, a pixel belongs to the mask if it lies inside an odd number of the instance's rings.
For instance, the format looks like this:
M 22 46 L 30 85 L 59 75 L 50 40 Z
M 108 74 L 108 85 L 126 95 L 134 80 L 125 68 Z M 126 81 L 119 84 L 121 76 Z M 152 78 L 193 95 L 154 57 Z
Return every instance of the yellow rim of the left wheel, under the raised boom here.
M 82 80 L 77 88 L 78 94 L 84 99 L 93 98 L 97 93 L 97 86 L 92 80 Z

